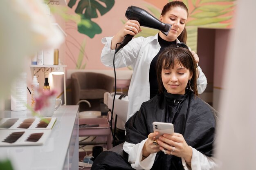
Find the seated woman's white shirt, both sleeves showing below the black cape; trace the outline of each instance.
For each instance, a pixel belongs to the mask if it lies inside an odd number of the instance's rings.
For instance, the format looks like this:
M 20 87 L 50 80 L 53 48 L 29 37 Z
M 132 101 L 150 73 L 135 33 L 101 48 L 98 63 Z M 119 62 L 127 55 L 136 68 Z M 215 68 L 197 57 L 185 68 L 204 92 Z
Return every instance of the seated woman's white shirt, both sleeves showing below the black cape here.
M 132 168 L 136 170 L 150 170 L 154 164 L 156 153 L 150 154 L 141 161 L 143 146 L 147 139 L 136 145 L 128 142 L 125 142 L 123 145 L 124 151 L 129 155 L 128 162 L 131 164 Z M 184 158 L 181 159 L 184 170 L 215 170 L 217 168 L 215 158 L 207 157 L 195 148 L 192 148 L 191 167 L 186 165 Z

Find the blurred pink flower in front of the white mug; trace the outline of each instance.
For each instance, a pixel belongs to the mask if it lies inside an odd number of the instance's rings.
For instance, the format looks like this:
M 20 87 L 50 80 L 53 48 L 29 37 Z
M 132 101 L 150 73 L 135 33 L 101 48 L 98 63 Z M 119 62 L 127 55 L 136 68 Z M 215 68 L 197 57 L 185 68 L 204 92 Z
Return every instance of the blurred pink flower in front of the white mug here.
M 54 90 L 52 90 L 50 92 L 49 91 L 42 92 L 41 95 L 36 98 L 35 111 L 40 110 L 44 106 L 48 106 L 49 105 L 48 98 L 55 94 L 56 94 L 56 91 L 54 91 Z

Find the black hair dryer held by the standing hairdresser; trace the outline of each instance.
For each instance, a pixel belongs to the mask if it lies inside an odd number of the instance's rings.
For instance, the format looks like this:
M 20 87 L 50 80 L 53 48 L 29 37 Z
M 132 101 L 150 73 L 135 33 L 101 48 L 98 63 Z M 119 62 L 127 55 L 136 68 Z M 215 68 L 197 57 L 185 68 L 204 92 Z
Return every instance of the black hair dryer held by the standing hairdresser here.
M 164 35 L 168 35 L 171 24 L 165 24 L 161 21 L 159 21 L 157 18 L 155 18 L 153 15 L 145 11 L 144 9 L 141 9 L 139 7 L 130 6 L 127 8 L 125 13 L 126 18 L 128 20 L 137 20 L 140 24 L 140 26 L 146 26 L 153 29 L 158 29 Z M 132 37 L 134 35 L 127 34 L 124 37 L 124 40 L 121 42 L 120 46 L 117 48 L 116 52 L 119 51 L 121 48 L 123 48 L 130 40 L 132 40 Z

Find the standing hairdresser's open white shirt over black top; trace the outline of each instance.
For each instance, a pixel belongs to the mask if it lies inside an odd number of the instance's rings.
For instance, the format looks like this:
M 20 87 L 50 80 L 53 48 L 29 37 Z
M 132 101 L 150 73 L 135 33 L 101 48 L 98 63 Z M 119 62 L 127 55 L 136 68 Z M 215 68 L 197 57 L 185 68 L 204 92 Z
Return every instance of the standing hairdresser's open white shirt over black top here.
M 101 53 L 101 62 L 108 67 L 113 67 L 115 50 L 111 47 L 112 37 L 101 40 L 105 44 Z M 176 42 L 180 42 L 176 40 Z M 127 120 L 139 110 L 141 104 L 149 100 L 149 68 L 153 58 L 160 50 L 158 33 L 147 38 L 138 37 L 132 39 L 126 46 L 116 53 L 115 67 L 132 66 L 133 74 L 128 91 L 128 113 Z M 207 86 L 207 79 L 198 66 L 199 77 L 197 79 L 198 93 L 202 93 Z

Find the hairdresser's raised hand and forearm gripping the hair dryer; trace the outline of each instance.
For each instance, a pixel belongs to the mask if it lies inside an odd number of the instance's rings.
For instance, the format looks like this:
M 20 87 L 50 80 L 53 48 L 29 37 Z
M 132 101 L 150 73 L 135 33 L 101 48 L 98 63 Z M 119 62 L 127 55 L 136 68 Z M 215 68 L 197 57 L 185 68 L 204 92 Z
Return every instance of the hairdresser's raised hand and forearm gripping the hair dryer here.
M 132 27 L 131 27 L 132 26 Z M 130 28 L 132 28 L 130 30 Z M 111 40 L 111 49 L 116 49 L 116 44 L 119 42 L 122 42 L 124 39 L 124 36 L 127 34 L 130 35 L 137 35 L 141 31 L 139 27 L 139 22 L 136 20 L 128 20 L 122 29 L 112 38 Z

